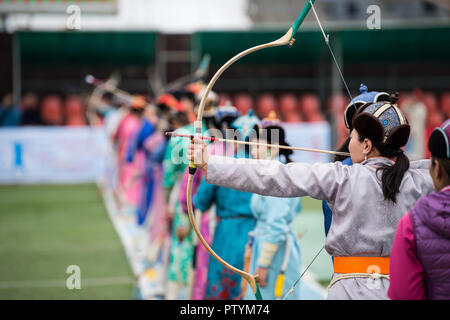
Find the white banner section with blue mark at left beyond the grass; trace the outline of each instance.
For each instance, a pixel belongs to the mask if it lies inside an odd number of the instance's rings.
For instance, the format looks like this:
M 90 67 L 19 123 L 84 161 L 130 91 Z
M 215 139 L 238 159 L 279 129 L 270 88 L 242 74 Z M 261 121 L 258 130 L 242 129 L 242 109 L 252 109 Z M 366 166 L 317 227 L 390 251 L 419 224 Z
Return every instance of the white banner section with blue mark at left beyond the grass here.
M 96 182 L 107 150 L 103 128 L 1 128 L 0 183 Z

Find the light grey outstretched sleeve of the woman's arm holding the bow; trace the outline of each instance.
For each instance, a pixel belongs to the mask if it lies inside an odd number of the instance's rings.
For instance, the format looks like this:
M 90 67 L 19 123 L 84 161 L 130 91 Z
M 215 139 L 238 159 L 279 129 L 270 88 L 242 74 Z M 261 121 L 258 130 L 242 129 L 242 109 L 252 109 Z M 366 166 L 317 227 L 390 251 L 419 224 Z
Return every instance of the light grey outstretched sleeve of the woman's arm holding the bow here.
M 353 167 L 340 162 L 288 163 L 211 156 L 206 180 L 222 187 L 274 197 L 311 196 L 334 203 Z

